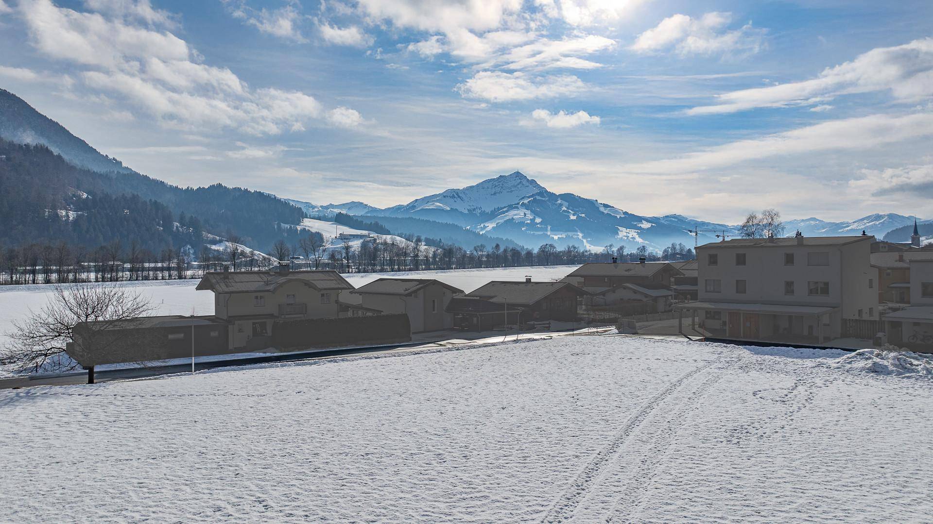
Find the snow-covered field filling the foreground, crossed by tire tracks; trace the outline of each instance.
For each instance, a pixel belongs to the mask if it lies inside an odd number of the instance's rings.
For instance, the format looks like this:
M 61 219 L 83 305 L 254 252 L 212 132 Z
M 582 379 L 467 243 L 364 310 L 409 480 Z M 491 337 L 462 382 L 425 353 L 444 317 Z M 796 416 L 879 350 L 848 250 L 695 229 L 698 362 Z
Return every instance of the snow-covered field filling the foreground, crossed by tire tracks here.
M 0 520 L 923 521 L 905 362 L 564 337 L 5 391 Z

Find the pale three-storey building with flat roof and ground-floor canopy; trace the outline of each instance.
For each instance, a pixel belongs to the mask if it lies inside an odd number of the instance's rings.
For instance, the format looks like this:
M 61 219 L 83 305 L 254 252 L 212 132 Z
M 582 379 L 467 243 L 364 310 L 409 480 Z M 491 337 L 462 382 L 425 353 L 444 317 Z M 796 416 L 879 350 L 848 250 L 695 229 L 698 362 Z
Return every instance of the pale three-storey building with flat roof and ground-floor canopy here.
M 697 248 L 698 299 L 675 306 L 717 338 L 823 343 L 878 320 L 871 236 L 735 239 Z

